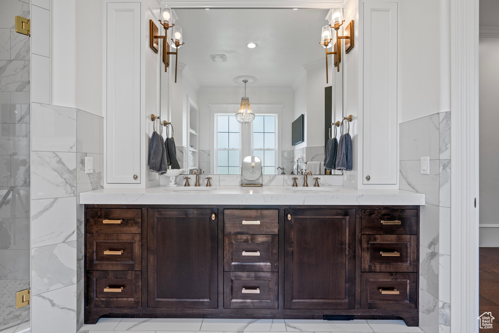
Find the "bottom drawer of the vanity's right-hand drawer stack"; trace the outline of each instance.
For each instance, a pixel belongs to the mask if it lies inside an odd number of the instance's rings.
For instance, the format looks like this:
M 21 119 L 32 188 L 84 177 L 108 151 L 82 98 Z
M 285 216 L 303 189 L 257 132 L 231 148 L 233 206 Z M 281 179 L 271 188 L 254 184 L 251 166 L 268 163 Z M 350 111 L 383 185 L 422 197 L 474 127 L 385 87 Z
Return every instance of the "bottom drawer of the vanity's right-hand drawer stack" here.
M 415 309 L 417 273 L 362 273 L 362 309 Z

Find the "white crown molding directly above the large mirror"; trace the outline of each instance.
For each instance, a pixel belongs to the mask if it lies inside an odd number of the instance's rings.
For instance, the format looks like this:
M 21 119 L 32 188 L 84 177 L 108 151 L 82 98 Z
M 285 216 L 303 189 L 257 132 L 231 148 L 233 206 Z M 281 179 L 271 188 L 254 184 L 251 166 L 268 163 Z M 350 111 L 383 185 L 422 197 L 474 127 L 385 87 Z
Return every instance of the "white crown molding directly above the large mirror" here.
M 172 8 L 318 8 L 329 9 L 343 0 L 163 0 Z

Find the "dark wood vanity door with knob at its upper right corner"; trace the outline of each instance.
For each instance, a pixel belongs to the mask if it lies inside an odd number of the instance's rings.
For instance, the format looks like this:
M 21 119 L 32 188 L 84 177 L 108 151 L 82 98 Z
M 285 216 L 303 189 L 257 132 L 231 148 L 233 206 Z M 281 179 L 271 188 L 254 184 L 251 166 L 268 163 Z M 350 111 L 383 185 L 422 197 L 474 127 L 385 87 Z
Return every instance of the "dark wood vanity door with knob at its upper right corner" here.
M 217 209 L 148 209 L 148 307 L 217 307 Z

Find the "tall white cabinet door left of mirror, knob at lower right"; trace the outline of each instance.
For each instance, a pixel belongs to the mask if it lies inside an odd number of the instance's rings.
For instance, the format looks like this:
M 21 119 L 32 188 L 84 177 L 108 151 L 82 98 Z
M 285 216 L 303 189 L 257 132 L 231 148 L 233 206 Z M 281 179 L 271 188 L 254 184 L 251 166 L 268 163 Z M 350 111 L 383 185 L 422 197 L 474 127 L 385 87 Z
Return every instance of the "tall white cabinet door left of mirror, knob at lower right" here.
M 107 4 L 107 182 L 140 183 L 140 3 Z

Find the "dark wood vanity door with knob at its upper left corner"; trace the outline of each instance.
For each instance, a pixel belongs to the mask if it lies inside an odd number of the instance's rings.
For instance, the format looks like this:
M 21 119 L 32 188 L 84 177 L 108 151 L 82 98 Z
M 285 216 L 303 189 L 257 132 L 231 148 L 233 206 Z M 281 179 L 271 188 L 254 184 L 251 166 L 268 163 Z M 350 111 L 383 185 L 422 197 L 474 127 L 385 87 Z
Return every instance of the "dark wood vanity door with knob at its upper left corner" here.
M 355 307 L 355 209 L 286 209 L 284 307 Z

